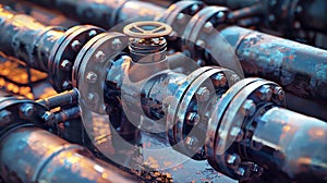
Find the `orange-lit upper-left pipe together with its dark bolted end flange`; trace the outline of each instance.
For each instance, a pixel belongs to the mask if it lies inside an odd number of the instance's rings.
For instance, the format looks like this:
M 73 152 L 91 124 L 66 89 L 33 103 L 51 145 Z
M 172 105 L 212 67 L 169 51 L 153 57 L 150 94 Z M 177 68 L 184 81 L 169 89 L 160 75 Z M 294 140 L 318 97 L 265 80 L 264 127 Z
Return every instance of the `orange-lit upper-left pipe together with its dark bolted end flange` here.
M 95 26 L 45 26 L 35 19 L 0 7 L 0 50 L 44 71 L 58 91 L 72 88 L 72 68 L 80 49 L 104 29 Z

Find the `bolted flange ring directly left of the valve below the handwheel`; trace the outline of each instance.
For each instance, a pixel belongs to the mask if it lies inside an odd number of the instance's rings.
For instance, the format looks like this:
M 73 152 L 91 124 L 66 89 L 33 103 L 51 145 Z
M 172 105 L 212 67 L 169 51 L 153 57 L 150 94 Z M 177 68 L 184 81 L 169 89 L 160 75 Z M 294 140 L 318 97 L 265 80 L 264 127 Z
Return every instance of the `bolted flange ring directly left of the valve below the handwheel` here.
M 106 114 L 104 101 L 104 86 L 107 77 L 107 69 L 110 68 L 112 59 L 128 47 L 128 36 L 120 33 L 102 33 L 90 39 L 76 57 L 81 60 L 75 80 L 80 90 L 80 105 L 98 114 Z M 117 49 L 112 44 L 121 42 Z M 96 54 L 101 51 L 104 59 L 96 60 Z

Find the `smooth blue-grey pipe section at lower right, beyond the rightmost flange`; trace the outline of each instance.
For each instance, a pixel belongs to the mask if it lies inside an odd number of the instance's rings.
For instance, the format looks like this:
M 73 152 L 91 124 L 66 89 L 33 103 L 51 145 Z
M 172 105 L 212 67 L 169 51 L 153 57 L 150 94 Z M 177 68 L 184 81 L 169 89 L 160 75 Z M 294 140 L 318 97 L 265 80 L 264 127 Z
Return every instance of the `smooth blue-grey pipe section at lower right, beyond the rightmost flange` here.
M 252 137 L 262 149 L 247 148 L 244 156 L 299 183 L 323 183 L 327 181 L 326 138 L 326 122 L 274 107 L 259 118 Z

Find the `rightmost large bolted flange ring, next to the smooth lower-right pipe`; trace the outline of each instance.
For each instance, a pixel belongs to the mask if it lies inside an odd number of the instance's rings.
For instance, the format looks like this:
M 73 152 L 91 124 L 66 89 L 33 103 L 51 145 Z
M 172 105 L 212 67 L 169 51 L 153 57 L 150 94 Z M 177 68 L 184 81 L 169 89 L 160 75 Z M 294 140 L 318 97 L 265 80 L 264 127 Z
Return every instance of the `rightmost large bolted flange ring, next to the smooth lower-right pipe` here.
M 217 113 L 211 119 L 211 122 L 216 122 L 209 125 L 206 145 L 208 162 L 214 168 L 238 180 L 247 180 L 252 175 L 251 172 L 246 175 L 238 173 L 242 160 L 240 159 L 238 164 L 229 164 L 228 157 L 243 156 L 244 151 L 240 151 L 237 146 L 240 142 L 244 141 L 245 143 L 249 139 L 251 133 L 247 131 L 255 129 L 253 120 L 257 113 L 262 112 L 263 108 L 272 105 L 283 106 L 284 99 L 275 99 L 274 88 L 280 87 L 274 82 L 245 78 L 231 88 L 228 97 L 223 97 L 217 103 Z M 244 163 L 242 169 L 246 169 Z

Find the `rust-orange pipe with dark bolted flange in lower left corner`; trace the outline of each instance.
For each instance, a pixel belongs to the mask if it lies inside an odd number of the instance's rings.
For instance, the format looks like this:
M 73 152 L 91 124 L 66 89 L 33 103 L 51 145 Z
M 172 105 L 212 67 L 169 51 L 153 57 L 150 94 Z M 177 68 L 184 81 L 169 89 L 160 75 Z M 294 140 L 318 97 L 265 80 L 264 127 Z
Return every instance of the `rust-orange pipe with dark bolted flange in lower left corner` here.
M 0 98 L 0 176 L 4 182 L 135 182 L 85 147 L 45 131 L 48 109 L 35 101 Z

